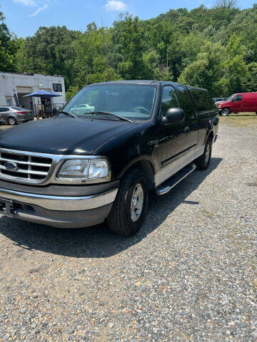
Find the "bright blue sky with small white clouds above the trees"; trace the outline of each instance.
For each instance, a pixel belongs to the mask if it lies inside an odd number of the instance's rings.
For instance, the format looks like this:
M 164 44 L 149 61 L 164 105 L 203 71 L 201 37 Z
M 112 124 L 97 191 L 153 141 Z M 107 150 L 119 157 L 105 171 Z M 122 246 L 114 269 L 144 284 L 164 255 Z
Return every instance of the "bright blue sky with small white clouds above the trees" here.
M 257 0 L 238 0 L 241 9 Z M 151 19 L 169 9 L 193 9 L 204 4 L 213 6 L 215 0 L 0 0 L 6 24 L 18 37 L 33 36 L 39 26 L 66 25 L 85 31 L 95 21 L 98 26 L 111 26 L 119 13 L 129 12 L 140 19 Z

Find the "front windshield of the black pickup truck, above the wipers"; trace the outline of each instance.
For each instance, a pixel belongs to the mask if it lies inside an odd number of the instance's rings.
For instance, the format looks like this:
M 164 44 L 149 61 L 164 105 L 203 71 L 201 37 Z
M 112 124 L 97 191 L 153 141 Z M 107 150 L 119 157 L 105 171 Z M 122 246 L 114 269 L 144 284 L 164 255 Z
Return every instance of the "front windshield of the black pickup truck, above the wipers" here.
M 94 115 L 94 112 L 107 112 L 131 120 L 148 120 L 153 113 L 155 99 L 156 86 L 121 83 L 96 85 L 80 90 L 62 110 L 79 118 Z M 116 120 L 111 116 L 109 118 Z

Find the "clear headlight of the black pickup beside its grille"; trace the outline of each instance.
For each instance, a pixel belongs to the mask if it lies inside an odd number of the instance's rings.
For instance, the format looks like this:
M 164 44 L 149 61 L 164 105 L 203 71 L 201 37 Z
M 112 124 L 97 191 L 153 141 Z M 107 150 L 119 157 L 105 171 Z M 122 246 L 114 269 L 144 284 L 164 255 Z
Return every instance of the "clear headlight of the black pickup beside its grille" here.
M 71 159 L 61 165 L 57 177 L 61 180 L 107 180 L 109 174 L 109 163 L 105 159 Z

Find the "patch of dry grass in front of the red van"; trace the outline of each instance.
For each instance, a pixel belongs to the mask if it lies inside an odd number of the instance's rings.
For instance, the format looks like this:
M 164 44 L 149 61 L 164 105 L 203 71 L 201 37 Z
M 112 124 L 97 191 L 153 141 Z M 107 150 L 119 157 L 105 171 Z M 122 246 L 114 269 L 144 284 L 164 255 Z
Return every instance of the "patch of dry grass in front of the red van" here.
M 234 127 L 248 127 L 257 129 L 256 113 L 236 113 L 226 117 L 220 116 L 220 123 Z

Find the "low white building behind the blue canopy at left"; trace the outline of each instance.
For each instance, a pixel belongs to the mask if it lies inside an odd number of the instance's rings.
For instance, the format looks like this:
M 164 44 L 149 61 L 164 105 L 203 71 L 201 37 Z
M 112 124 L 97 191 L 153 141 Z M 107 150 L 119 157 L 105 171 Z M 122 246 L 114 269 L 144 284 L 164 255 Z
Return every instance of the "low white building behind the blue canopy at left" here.
M 24 98 L 24 95 L 38 90 L 46 90 L 55 98 Z M 36 106 L 54 107 L 66 103 L 64 78 L 62 76 L 44 76 L 37 73 L 0 73 L 0 105 L 20 105 L 35 110 Z

